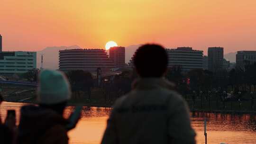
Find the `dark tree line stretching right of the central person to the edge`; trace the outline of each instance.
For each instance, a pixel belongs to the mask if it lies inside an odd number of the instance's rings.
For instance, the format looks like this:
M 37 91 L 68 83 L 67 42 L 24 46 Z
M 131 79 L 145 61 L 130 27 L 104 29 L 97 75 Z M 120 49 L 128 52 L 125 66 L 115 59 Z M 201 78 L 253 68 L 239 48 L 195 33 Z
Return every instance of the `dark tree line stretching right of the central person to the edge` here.
M 192 91 L 255 91 L 256 90 L 256 63 L 246 65 L 245 69 L 234 68 L 230 71 L 193 69 L 187 73 L 182 67 L 174 66 L 166 73 L 166 78 L 176 84 L 181 93 Z

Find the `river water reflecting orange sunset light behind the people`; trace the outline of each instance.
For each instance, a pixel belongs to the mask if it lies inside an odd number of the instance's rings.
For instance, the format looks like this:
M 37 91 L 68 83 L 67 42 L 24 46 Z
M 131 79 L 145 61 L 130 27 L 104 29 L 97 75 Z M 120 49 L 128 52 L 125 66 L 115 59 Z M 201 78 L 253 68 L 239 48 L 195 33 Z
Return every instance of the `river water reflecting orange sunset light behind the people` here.
M 3 102 L 0 106 L 2 119 L 7 109 L 15 109 L 19 119 L 19 109 L 23 103 Z M 70 144 L 99 144 L 106 127 L 110 108 L 84 107 L 82 118 L 69 135 Z M 68 117 L 73 107 L 66 108 Z M 256 144 L 256 115 L 234 115 L 213 113 L 191 113 L 192 127 L 195 129 L 197 144 L 205 144 L 204 118 L 207 117 L 207 143 Z

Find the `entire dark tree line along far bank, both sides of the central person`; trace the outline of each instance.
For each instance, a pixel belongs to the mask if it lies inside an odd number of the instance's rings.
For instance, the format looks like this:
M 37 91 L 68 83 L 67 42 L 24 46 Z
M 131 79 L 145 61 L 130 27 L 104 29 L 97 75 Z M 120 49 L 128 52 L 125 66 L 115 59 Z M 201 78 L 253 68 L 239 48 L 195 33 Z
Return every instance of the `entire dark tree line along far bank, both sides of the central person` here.
M 33 69 L 25 74 L 28 81 L 37 81 L 39 70 Z M 73 95 L 80 97 L 84 92 L 91 99 L 91 88 L 96 86 L 96 78 L 90 72 L 75 70 L 65 73 L 70 81 Z M 173 81 L 183 96 L 191 94 L 192 91 L 250 91 L 256 88 L 256 63 L 246 65 L 245 69 L 235 68 L 230 70 L 221 70 L 219 72 L 210 72 L 208 70 L 193 69 L 184 73 L 182 67 L 174 65 L 169 68 L 165 75 L 166 79 Z M 121 74 L 114 75 L 111 80 L 104 78 L 101 80 L 100 87 L 104 89 L 105 99 L 109 97 L 118 98 L 119 96 L 131 90 L 132 82 L 137 78 L 135 70 L 123 70 Z M 249 89 L 253 87 L 253 89 Z

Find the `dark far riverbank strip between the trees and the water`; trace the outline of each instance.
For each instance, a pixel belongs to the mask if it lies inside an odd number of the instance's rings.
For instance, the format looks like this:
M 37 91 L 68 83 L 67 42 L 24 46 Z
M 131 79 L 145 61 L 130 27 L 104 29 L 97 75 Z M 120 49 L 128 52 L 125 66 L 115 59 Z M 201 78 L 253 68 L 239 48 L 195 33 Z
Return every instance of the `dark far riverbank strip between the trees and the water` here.
M 112 94 L 111 94 L 112 95 Z M 247 98 L 243 101 L 222 101 L 211 97 L 211 99 L 192 99 L 191 96 L 186 97 L 189 108 L 192 112 L 210 112 L 210 113 L 237 113 L 237 114 L 256 114 L 256 101 L 253 102 Z M 104 90 L 92 89 L 91 96 L 85 92 L 73 93 L 72 99 L 68 101 L 69 106 L 87 106 L 87 107 L 103 107 L 110 108 L 116 97 L 106 96 Z M 37 103 L 36 90 L 18 90 L 15 93 L 4 95 L 4 100 L 8 102 Z

